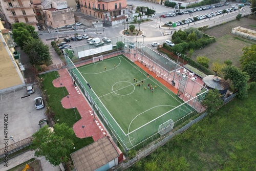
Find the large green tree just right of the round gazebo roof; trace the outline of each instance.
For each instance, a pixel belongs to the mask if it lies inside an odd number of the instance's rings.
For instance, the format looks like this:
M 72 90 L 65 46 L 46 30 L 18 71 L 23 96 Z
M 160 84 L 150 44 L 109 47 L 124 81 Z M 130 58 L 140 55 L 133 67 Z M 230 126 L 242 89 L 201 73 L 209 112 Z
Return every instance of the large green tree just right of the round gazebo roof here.
M 239 98 L 248 97 L 248 84 L 249 76 L 246 72 L 242 72 L 239 68 L 235 66 L 226 66 L 222 69 L 224 74 L 224 79 L 229 79 L 232 82 L 234 90 L 238 91 Z

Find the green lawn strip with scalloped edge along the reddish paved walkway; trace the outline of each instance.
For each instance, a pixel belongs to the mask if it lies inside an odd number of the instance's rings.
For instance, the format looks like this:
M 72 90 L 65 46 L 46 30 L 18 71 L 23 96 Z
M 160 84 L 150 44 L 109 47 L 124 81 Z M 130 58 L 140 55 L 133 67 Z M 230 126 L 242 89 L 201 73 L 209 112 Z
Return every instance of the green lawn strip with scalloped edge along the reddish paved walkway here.
M 54 120 L 57 121 L 57 119 L 59 119 L 58 123 L 66 123 L 68 126 L 73 127 L 73 124 L 77 122 L 77 120 L 75 115 L 70 114 L 73 114 L 74 110 L 64 109 L 62 107 L 60 100 L 64 97 L 64 94 L 62 88 L 55 88 L 53 86 L 52 81 L 56 79 L 55 75 L 58 75 L 57 71 L 55 71 L 55 73 L 50 72 L 47 74 L 40 75 L 40 78 L 43 78 L 42 84 L 44 87 L 42 88 L 42 90 L 47 90 L 49 104 L 51 106 L 52 111 L 55 113 Z M 65 91 L 65 94 L 67 95 L 67 89 L 65 87 L 63 89 Z M 81 116 L 78 115 L 77 109 L 76 113 L 77 118 L 79 120 Z M 92 137 L 80 139 L 75 136 L 75 133 L 73 135 L 72 140 L 74 142 L 75 147 L 75 149 L 73 149 L 72 152 L 77 151 L 78 149 L 94 142 Z

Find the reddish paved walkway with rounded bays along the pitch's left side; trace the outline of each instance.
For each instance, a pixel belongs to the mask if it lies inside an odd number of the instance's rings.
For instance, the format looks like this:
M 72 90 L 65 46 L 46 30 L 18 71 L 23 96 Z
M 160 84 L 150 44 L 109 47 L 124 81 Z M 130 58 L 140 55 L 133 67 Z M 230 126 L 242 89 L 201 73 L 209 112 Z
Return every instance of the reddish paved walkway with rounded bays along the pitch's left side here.
M 78 138 L 92 136 L 94 141 L 97 141 L 103 138 L 104 136 L 106 136 L 107 133 L 103 125 L 100 123 L 99 119 L 97 118 L 96 114 L 95 114 L 95 120 L 93 115 L 91 115 L 90 111 L 92 111 L 92 108 L 89 105 L 89 102 L 86 100 L 86 97 L 84 97 L 82 93 L 80 93 L 80 95 L 77 93 L 75 86 L 73 86 L 73 80 L 69 75 L 69 72 L 67 71 L 67 69 L 66 68 L 60 69 L 58 70 L 58 73 L 60 77 L 53 80 L 53 86 L 60 87 L 60 83 L 62 83 L 62 86 L 66 87 L 66 89 L 69 92 L 69 95 L 68 95 L 69 98 L 67 98 L 66 96 L 66 97 L 63 97 L 61 100 L 61 104 L 63 108 L 70 109 L 71 106 L 72 108 L 75 107 L 77 108 L 77 111 L 81 116 L 81 119 L 78 120 L 73 125 L 73 130 L 76 136 Z M 79 92 L 81 92 L 80 89 L 79 89 Z M 96 121 L 98 121 L 98 125 Z M 82 125 L 84 125 L 84 128 L 82 128 Z

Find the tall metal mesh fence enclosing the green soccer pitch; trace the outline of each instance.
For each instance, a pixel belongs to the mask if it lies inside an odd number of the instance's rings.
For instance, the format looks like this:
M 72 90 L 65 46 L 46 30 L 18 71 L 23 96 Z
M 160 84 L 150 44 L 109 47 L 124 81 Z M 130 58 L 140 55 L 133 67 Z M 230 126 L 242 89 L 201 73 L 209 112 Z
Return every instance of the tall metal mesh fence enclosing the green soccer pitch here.
M 133 62 L 141 62 L 159 77 L 166 79 L 167 83 L 171 84 L 172 81 L 175 81 L 175 87 L 179 90 L 177 96 L 184 101 L 183 104 L 177 106 L 173 110 L 170 110 L 162 116 L 152 120 L 151 122 L 144 124 L 138 129 L 125 134 L 119 124 L 105 108 L 104 104 L 99 100 L 93 89 L 89 89 L 87 86 L 88 82 L 81 75 L 81 73 L 76 68 L 76 65 L 66 54 L 65 59 L 68 66 L 68 71 L 72 78 L 76 81 L 81 92 L 88 98 L 92 108 L 95 110 L 102 123 L 108 129 L 114 141 L 116 143 L 118 141 L 121 144 L 123 151 L 129 151 L 130 149 L 139 149 L 144 147 L 146 144 L 153 142 L 156 138 L 158 138 L 160 136 L 160 134 L 158 134 L 159 125 L 166 122 L 167 120 L 175 118 L 173 119 L 175 127 L 196 115 L 198 112 L 202 112 L 204 109 L 202 108 L 200 101 L 203 100 L 203 98 L 206 96 L 208 90 L 205 89 L 202 85 L 198 84 L 196 81 L 191 80 L 188 77 L 188 71 L 185 71 L 185 69 L 179 66 L 178 63 L 146 47 L 141 42 L 136 42 L 135 47 L 130 47 L 130 40 L 120 36 L 112 39 L 111 46 L 115 46 L 116 42 L 118 41 L 122 41 L 124 43 L 125 46 L 121 49 L 121 51 L 127 59 Z M 76 61 L 78 57 L 76 54 L 81 54 L 80 51 L 90 50 L 90 48 L 93 48 L 90 46 L 83 46 L 84 45 L 74 49 L 75 56 L 73 57 L 73 60 Z M 93 56 L 103 55 L 104 58 L 108 58 L 114 56 L 115 54 L 113 50 L 109 50 L 109 52 L 112 52 L 111 55 L 106 54 L 105 52 L 101 53 L 100 50 L 101 49 L 94 49 L 93 51 L 98 53 L 95 53 L 94 55 L 89 54 L 84 58 L 89 61 Z M 134 56 L 136 56 L 136 58 Z M 178 116 L 174 117 L 177 114 Z M 147 133 L 147 130 L 153 131 L 151 133 Z

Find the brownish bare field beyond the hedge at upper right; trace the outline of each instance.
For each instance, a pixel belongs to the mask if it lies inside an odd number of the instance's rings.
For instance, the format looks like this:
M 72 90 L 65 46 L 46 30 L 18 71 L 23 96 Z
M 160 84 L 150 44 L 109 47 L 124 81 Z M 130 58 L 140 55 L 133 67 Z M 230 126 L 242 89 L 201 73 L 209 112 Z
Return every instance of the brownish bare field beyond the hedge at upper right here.
M 231 30 L 238 26 L 256 30 L 255 27 L 250 27 L 250 25 L 255 25 L 255 23 L 256 20 L 243 17 L 240 21 L 233 20 L 232 22 L 208 29 L 204 33 L 216 37 L 216 42 L 203 49 L 195 50 L 191 58 L 196 60 L 198 56 L 206 56 L 210 59 L 209 69 L 212 62 L 224 63 L 227 59 L 232 61 L 232 65 L 240 67 L 239 59 L 243 55 L 242 49 L 256 44 L 256 42 L 231 34 Z

